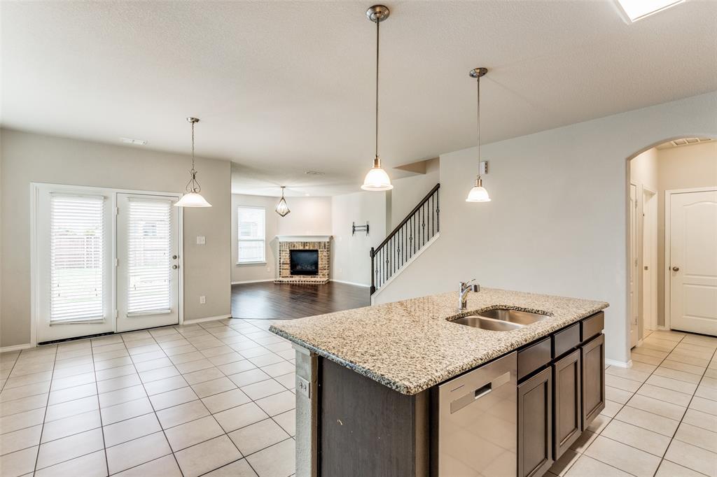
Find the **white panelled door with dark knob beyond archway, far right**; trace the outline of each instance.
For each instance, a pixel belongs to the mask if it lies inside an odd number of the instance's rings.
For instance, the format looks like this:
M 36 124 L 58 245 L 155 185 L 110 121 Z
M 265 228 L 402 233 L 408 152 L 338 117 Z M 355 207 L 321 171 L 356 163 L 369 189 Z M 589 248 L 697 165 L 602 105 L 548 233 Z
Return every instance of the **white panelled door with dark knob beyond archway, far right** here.
M 670 328 L 717 335 L 717 190 L 670 194 Z

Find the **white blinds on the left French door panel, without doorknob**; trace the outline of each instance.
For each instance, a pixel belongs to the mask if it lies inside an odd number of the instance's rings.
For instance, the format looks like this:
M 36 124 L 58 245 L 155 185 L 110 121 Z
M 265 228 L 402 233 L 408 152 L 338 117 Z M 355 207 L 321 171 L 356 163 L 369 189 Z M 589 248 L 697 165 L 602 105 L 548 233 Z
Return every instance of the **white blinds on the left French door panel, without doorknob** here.
M 102 196 L 50 196 L 50 323 L 104 319 Z

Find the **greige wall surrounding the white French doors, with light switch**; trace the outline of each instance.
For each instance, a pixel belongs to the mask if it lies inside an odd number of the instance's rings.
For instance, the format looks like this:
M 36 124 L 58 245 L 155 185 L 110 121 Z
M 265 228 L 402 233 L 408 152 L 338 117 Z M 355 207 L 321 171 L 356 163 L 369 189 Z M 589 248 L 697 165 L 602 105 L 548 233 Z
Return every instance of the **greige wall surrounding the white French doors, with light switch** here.
M 1 130 L 0 346 L 30 342 L 31 182 L 182 192 L 189 157 L 136 147 Z M 229 162 L 199 158 L 202 195 L 212 208 L 184 210 L 184 319 L 231 314 Z M 196 245 L 196 236 L 206 245 Z M 199 296 L 206 304 L 199 304 Z

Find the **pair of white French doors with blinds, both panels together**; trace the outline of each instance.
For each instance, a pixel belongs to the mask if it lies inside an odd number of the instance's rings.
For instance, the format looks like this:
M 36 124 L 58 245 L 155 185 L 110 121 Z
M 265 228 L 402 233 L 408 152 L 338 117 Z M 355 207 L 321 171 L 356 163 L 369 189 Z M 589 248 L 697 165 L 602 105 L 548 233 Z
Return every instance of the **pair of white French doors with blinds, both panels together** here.
M 36 342 L 179 323 L 178 198 L 32 185 Z

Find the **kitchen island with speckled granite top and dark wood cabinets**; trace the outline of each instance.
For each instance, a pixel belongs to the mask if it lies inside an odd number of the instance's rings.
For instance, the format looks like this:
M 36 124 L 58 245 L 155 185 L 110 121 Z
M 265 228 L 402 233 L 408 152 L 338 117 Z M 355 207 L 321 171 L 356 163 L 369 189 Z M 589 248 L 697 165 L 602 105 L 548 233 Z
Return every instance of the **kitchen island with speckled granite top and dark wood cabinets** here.
M 480 475 L 491 463 L 483 475 L 538 476 L 579 437 L 604 407 L 608 304 L 498 289 L 470 293 L 465 310 L 457 304 L 446 293 L 271 327 L 297 350 L 298 476 Z M 542 317 L 511 331 L 453 322 L 495 309 Z M 497 362 L 505 373 L 455 391 L 455 402 L 465 390 L 490 399 L 470 414 L 452 404 L 441 418 L 442 385 Z M 465 418 L 456 430 L 451 416 Z M 495 442 L 478 431 L 487 426 Z M 447 448 L 461 433 L 462 444 Z

